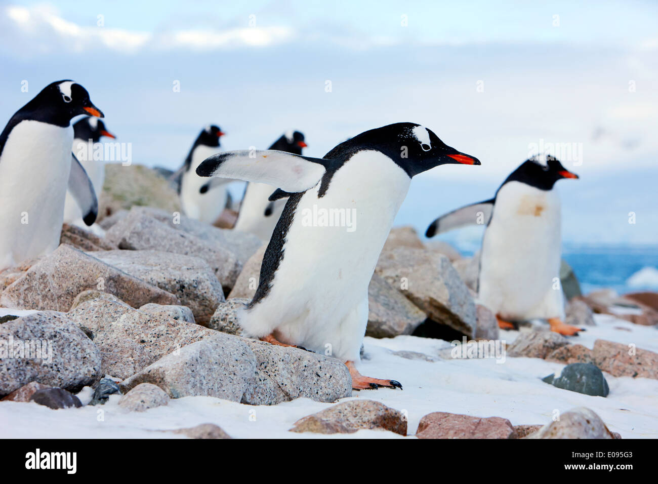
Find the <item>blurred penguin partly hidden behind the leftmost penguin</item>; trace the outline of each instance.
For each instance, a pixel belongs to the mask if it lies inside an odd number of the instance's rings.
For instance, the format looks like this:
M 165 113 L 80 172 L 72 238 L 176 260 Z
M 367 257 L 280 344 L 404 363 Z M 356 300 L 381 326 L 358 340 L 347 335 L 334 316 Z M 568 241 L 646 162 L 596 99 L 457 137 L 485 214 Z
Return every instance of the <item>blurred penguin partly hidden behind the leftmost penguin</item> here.
M 89 140 L 92 147 L 101 140 L 101 137 L 116 138 L 105 128 L 103 121 L 96 117 L 84 117 L 73 124 L 73 154 L 76 155 L 80 165 L 84 167 L 93 184 L 96 198 L 101 195 L 105 181 L 105 161 L 93 159 L 93 149 L 89 149 Z M 64 222 L 74 223 L 82 219 L 82 210 L 70 192 L 66 192 L 64 202 Z

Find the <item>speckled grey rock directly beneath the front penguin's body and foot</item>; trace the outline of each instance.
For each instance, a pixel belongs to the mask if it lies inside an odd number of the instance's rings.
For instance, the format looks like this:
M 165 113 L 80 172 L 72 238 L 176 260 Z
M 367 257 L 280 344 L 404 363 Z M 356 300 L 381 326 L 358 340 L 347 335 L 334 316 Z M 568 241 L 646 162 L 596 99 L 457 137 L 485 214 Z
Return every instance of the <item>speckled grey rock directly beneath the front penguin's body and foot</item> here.
M 290 346 L 244 339 L 256 357 L 256 373 L 241 402 L 276 405 L 306 397 L 335 402 L 352 394 L 352 379 L 344 363 Z

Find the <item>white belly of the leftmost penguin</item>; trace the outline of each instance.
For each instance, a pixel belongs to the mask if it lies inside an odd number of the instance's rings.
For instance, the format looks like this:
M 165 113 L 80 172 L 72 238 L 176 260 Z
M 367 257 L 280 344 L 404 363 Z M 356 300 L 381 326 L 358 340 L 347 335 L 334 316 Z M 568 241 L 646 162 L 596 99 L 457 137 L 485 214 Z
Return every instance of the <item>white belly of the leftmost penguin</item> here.
M 70 128 L 39 121 L 9 134 L 0 157 L 0 267 L 59 246 L 72 138 Z

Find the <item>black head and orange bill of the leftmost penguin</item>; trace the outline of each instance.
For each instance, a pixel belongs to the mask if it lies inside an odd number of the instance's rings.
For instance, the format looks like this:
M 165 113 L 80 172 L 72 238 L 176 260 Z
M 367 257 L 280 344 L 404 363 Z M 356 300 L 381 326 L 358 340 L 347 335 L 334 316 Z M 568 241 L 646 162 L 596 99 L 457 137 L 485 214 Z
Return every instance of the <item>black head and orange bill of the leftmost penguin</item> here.
M 57 126 L 68 126 L 71 119 L 78 115 L 103 117 L 103 113 L 91 103 L 87 90 L 72 80 L 48 84 L 16 114 L 19 113 L 22 119 Z

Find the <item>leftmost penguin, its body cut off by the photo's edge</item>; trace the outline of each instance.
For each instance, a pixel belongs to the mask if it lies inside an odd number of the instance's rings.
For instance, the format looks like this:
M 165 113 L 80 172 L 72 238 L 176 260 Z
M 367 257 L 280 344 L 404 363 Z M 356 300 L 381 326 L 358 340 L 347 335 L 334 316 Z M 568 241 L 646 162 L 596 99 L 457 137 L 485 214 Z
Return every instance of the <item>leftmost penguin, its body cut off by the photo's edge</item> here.
M 0 268 L 47 254 L 59 245 L 66 189 L 91 225 L 97 200 L 71 153 L 70 120 L 103 117 L 85 88 L 53 82 L 11 117 L 0 134 Z

